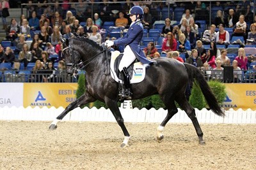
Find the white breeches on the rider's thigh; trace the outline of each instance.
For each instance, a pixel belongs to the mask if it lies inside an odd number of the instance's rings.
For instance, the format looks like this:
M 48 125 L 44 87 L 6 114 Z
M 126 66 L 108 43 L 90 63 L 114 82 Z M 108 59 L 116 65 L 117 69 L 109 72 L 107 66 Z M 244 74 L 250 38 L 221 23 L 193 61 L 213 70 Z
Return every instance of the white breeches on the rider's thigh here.
M 124 48 L 124 55 L 120 61 L 119 64 L 119 71 L 122 71 L 124 67 L 128 67 L 132 64 L 132 62 L 134 62 L 134 60 L 136 60 L 136 57 L 134 55 L 134 53 L 132 52 L 132 49 L 129 45 L 125 46 Z

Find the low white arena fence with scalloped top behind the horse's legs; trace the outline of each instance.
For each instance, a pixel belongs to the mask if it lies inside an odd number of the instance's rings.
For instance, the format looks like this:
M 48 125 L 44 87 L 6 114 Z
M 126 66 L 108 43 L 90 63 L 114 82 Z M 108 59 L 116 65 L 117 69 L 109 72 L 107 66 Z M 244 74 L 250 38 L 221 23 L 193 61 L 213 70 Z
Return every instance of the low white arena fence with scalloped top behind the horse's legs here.
M 4 106 L 0 110 L 0 120 L 26 120 L 26 121 L 52 121 L 58 117 L 64 108 L 28 108 L 15 107 L 8 108 Z M 161 123 L 166 117 L 167 110 L 163 108 L 155 110 L 154 108 L 147 110 L 145 108 L 139 110 L 120 108 L 125 122 L 146 122 L 146 123 Z M 226 116 L 219 117 L 212 111 L 196 109 L 196 117 L 201 124 L 256 124 L 256 111 L 253 110 L 233 110 L 225 111 Z M 105 108 L 76 108 L 70 111 L 63 118 L 63 121 L 87 121 L 87 122 L 116 122 L 111 111 Z M 191 123 L 188 115 L 179 109 L 179 112 L 169 121 L 170 123 Z

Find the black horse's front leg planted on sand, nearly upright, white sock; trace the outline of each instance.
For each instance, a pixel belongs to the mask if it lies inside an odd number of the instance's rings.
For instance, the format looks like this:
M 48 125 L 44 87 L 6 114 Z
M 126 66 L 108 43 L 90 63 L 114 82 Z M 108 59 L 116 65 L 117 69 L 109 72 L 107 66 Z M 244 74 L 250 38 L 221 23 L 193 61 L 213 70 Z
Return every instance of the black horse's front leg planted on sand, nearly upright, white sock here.
M 123 141 L 121 147 L 125 148 L 126 146 L 129 146 L 128 142 L 130 139 L 130 134 L 124 125 L 124 118 L 122 117 L 121 112 L 118 108 L 117 101 L 106 97 L 105 103 L 108 106 L 109 110 L 111 110 L 111 112 L 113 113 L 114 117 L 116 118 L 116 122 L 118 123 L 118 125 L 120 125 L 122 131 L 124 132 L 124 141 Z

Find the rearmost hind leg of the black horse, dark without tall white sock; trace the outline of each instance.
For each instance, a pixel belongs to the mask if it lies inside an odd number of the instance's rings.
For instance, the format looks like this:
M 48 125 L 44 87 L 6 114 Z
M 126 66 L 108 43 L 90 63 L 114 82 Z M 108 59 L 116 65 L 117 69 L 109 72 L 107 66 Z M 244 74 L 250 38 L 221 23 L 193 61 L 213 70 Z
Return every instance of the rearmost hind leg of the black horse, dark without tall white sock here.
M 203 139 L 203 132 L 202 129 L 198 123 L 198 120 L 196 118 L 196 113 L 195 109 L 188 103 L 187 99 L 185 96 L 180 97 L 177 100 L 177 103 L 179 104 L 180 108 L 182 108 L 188 115 L 188 117 L 191 119 L 195 129 L 196 129 L 196 134 L 199 139 L 199 144 L 204 145 L 205 141 Z

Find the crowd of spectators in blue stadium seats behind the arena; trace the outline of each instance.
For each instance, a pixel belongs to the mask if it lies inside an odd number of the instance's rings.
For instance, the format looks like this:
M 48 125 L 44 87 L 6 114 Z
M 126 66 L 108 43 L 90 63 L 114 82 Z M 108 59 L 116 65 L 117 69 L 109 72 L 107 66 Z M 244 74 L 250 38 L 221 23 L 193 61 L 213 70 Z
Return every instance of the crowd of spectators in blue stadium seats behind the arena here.
M 54 81 L 52 75 L 58 73 L 55 70 L 56 67 L 52 67 L 54 63 L 58 63 L 60 70 L 63 69 L 60 62 L 65 66 L 65 59 L 61 55 L 61 38 L 86 36 L 102 45 L 106 39 L 111 38 L 109 37 L 111 31 L 119 30 L 122 36 L 131 24 L 127 13 L 134 5 L 140 5 L 143 8 L 142 23 L 146 32 L 154 29 L 156 20 L 162 20 L 164 23 L 159 29 L 161 42 L 150 41 L 141 46 L 147 59 L 170 57 L 180 62 L 193 64 L 202 71 L 221 70 L 220 66 L 235 66 L 236 70 L 246 71 L 255 59 L 252 57 L 248 60 L 244 52 L 246 45 L 256 45 L 256 21 L 250 10 L 251 1 L 214 1 L 212 6 L 203 1 L 166 1 L 166 3 L 154 3 L 154 1 L 130 3 L 127 1 L 121 4 L 117 0 L 103 0 L 102 3 L 97 4 L 90 2 L 95 1 L 29 0 L 26 6 L 27 15 L 20 15 L 20 20 L 12 18 L 11 23 L 4 27 L 6 29 L 4 40 L 12 41 L 12 46 L 15 48 L 1 47 L 0 62 L 23 63 L 24 69 L 27 69 L 29 62 L 32 62 L 35 64 L 33 73 L 42 73 L 44 72 L 42 69 L 50 70 L 50 76 L 40 76 L 35 81 Z M 167 6 L 172 9 L 184 8 L 179 20 L 176 20 L 177 24 L 172 24 L 173 17 L 159 18 L 159 11 Z M 196 21 L 200 20 L 198 15 L 202 14 L 202 11 L 209 11 L 211 8 L 222 10 L 216 11 L 212 24 L 207 29 L 211 16 L 207 15 L 203 19 L 206 20 L 205 25 Z M 104 28 L 104 23 L 110 21 L 115 24 L 108 29 Z M 230 28 L 232 31 L 227 31 Z M 233 37 L 240 39 L 231 41 Z M 237 51 L 232 52 L 236 53 L 232 59 L 227 57 L 228 47 L 231 44 L 239 45 Z M 218 45 L 224 45 L 224 47 L 218 48 Z

